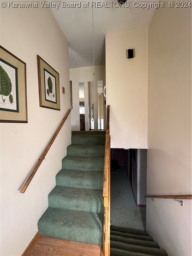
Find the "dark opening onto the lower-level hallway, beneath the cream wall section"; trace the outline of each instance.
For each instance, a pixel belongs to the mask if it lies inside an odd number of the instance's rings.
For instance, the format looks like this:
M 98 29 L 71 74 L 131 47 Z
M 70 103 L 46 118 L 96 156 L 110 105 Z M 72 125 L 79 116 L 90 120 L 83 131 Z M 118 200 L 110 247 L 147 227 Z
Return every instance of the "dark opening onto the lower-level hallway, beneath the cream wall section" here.
M 147 149 L 111 149 L 111 225 L 146 230 Z

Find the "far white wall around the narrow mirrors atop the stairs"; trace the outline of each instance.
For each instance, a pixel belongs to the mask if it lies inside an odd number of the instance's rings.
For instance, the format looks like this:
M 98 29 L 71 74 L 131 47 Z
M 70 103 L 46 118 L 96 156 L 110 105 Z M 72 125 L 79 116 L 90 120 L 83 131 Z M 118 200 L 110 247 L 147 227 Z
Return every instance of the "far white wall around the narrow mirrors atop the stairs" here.
M 95 75 L 93 75 L 92 66 L 82 67 L 82 68 L 72 68 L 70 69 L 70 80 L 72 81 L 72 91 L 73 91 L 73 109 L 71 110 L 72 131 L 80 131 L 79 83 L 81 82 L 84 82 L 84 93 L 85 93 L 85 130 L 89 130 L 88 82 L 91 82 L 91 81 L 93 81 L 94 126 L 95 126 L 95 130 L 98 130 L 97 81 L 103 80 L 103 85 L 105 85 L 105 65 L 95 66 Z

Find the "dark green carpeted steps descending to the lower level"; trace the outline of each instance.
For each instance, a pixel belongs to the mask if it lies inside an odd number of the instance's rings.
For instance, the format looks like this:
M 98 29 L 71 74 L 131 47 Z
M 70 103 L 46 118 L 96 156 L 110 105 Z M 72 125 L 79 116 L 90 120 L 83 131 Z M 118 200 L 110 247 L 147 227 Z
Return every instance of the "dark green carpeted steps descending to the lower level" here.
M 110 228 L 111 256 L 167 256 L 145 231 Z

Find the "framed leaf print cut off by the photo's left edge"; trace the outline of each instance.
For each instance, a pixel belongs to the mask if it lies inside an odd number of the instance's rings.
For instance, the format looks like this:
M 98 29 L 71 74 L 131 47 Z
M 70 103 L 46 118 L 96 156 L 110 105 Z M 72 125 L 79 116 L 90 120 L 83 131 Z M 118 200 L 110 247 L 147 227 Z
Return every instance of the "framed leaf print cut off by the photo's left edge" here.
M 0 46 L 0 122 L 27 123 L 26 63 Z

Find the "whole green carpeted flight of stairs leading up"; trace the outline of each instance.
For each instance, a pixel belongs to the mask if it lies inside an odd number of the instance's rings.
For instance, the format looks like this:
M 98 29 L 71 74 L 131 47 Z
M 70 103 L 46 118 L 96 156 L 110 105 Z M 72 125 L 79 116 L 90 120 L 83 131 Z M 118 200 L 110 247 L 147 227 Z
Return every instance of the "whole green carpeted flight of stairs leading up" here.
M 102 246 L 105 132 L 72 132 L 71 141 L 38 230 L 41 236 Z

